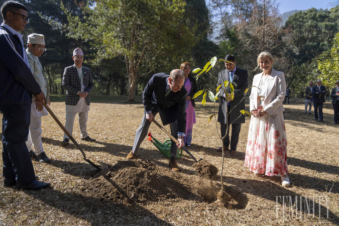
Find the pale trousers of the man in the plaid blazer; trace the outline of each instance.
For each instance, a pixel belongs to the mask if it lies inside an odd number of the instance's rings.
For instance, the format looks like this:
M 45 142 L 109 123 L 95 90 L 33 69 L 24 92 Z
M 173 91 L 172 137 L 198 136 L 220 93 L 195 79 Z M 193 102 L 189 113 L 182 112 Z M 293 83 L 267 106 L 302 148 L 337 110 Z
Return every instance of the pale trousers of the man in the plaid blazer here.
M 78 114 L 78 117 L 79 117 L 79 127 L 80 127 L 81 138 L 86 138 L 88 136 L 87 129 L 86 129 L 86 126 L 87 126 L 86 123 L 87 123 L 87 119 L 88 119 L 88 111 L 79 112 L 79 113 L 66 111 L 65 128 L 68 131 L 68 133 L 70 133 L 72 135 L 74 118 L 75 118 L 76 114 Z M 69 138 L 69 137 L 64 133 L 64 138 Z

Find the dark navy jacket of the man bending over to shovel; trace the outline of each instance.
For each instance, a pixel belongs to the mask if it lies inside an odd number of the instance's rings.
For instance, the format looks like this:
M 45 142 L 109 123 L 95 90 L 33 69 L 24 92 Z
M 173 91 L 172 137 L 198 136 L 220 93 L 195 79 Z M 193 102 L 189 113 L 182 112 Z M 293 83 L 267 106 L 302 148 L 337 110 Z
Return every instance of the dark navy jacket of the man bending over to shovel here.
M 163 125 L 178 120 L 178 132 L 186 133 L 186 97 L 187 91 L 183 86 L 177 92 L 170 92 L 165 97 L 169 74 L 154 74 L 143 92 L 145 112 L 159 112 Z

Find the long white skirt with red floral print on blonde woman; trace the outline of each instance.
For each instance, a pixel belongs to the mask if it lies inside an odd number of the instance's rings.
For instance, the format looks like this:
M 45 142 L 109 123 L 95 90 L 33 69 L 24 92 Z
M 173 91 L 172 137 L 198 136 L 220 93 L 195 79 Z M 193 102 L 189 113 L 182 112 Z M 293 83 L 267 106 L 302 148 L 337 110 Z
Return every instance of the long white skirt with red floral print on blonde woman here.
M 283 113 L 251 117 L 244 166 L 267 176 L 288 174 Z

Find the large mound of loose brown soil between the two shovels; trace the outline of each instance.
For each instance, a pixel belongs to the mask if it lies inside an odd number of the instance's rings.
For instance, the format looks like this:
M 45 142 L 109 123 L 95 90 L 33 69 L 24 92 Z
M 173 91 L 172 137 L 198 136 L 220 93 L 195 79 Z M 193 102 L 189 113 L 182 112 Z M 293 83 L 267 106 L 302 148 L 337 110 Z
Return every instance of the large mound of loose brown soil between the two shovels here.
M 171 172 L 151 161 L 119 161 L 101 171 L 97 178 L 83 185 L 82 190 L 91 196 L 127 202 L 201 199 L 192 192 L 185 174 Z

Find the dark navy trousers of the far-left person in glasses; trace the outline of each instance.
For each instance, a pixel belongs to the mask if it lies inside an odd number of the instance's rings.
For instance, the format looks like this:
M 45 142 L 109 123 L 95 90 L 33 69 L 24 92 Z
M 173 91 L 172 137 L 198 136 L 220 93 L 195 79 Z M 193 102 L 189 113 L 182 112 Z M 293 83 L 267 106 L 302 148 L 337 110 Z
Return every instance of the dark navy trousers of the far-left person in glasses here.
M 31 111 L 11 111 L 3 114 L 3 175 L 18 185 L 35 181 L 35 173 L 26 147 Z

